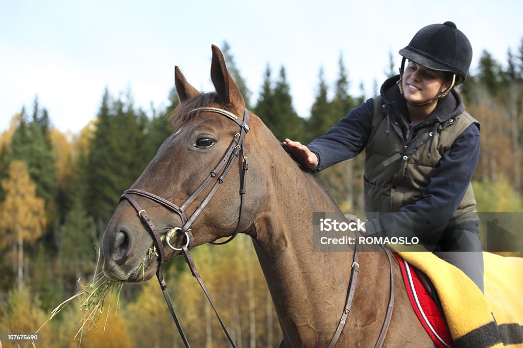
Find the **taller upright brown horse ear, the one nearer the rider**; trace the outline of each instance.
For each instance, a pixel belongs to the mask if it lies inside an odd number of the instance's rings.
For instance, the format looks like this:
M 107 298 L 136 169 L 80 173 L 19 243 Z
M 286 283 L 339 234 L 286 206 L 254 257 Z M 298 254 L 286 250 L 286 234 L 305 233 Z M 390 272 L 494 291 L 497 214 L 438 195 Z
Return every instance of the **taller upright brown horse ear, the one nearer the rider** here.
M 242 93 L 225 66 L 222 52 L 215 45 L 212 45 L 211 80 L 218 93 L 220 102 L 235 105 L 238 107 L 238 112 L 243 113 L 245 101 Z

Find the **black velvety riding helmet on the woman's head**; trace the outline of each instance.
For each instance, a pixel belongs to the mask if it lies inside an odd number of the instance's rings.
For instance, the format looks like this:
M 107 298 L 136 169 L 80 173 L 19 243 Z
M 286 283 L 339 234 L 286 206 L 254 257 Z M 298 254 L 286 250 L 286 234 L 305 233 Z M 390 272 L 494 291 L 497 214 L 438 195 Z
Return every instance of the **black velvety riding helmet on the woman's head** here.
M 456 74 L 456 85 L 465 81 L 472 62 L 470 41 L 453 22 L 422 28 L 399 53 L 403 56 L 401 74 L 406 58 L 429 69 Z

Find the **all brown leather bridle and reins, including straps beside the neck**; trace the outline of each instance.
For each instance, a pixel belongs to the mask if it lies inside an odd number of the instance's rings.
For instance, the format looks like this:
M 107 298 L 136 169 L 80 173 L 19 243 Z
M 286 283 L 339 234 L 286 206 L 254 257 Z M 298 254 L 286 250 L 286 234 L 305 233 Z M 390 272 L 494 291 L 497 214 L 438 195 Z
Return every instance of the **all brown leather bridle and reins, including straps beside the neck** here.
M 231 334 L 225 327 L 223 320 L 221 319 L 220 315 L 218 314 L 218 310 L 214 306 L 214 303 L 212 302 L 211 296 L 209 295 L 209 292 L 207 291 L 206 286 L 203 284 L 203 280 L 201 279 L 200 273 L 196 269 L 194 260 L 192 260 L 192 257 L 190 256 L 189 250 L 192 249 L 192 247 L 194 247 L 194 244 L 195 244 L 194 237 L 192 236 L 192 231 L 191 231 L 190 227 L 191 227 L 192 223 L 196 220 L 196 218 L 198 218 L 198 215 L 203 211 L 203 209 L 205 209 L 205 207 L 207 206 L 207 203 L 209 203 L 212 196 L 218 189 L 219 185 L 221 183 L 223 183 L 226 175 L 230 172 L 230 170 L 234 164 L 234 158 L 241 157 L 242 171 L 241 171 L 241 175 L 240 175 L 240 211 L 238 214 L 238 223 L 236 226 L 236 230 L 228 239 L 226 239 L 226 241 L 224 241 L 224 242 L 215 242 L 214 241 L 214 242 L 210 242 L 210 243 L 217 244 L 217 245 L 229 243 L 240 232 L 240 226 L 241 226 L 242 214 L 243 214 L 243 202 L 244 202 L 245 187 L 246 187 L 246 173 L 248 170 L 247 157 L 245 157 L 245 153 L 244 153 L 244 141 L 245 141 L 245 136 L 247 134 L 247 131 L 249 130 L 249 112 L 247 109 L 244 110 L 243 120 L 238 118 L 233 113 L 231 113 L 227 110 L 219 109 L 218 107 L 198 107 L 197 109 L 191 110 L 189 112 L 189 114 L 199 113 L 199 112 L 217 113 L 217 114 L 225 116 L 229 119 L 232 119 L 232 121 L 236 122 L 236 124 L 238 126 L 240 126 L 240 131 L 238 133 L 236 133 L 236 135 L 234 136 L 233 140 L 231 141 L 228 149 L 224 152 L 224 154 L 222 155 L 218 164 L 210 172 L 210 174 L 207 176 L 207 178 L 204 179 L 204 181 L 200 184 L 200 186 L 194 191 L 194 193 L 192 193 L 187 198 L 187 200 L 179 207 L 176 206 L 174 203 L 172 203 L 160 196 L 154 195 L 152 193 L 149 193 L 147 191 L 143 191 L 140 189 L 135 189 L 135 188 L 131 188 L 131 189 L 124 191 L 122 196 L 120 196 L 120 201 L 123 199 L 129 201 L 131 206 L 138 212 L 138 216 L 140 217 L 140 219 L 147 225 L 147 227 L 149 227 L 149 233 L 151 234 L 151 236 L 156 244 L 158 253 L 159 253 L 158 254 L 158 268 L 156 270 L 156 278 L 158 279 L 158 282 L 160 283 L 160 287 L 161 287 L 163 295 L 165 297 L 167 307 L 169 308 L 170 314 L 172 315 L 172 317 L 174 319 L 178 332 L 180 333 L 180 337 L 183 340 L 185 346 L 188 348 L 190 347 L 189 343 L 187 341 L 187 337 L 186 337 L 183 329 L 181 328 L 180 322 L 178 320 L 178 317 L 176 316 L 176 312 L 173 308 L 173 304 L 172 304 L 169 294 L 167 292 L 167 283 L 165 282 L 165 280 L 163 278 L 162 269 L 163 269 L 163 264 L 165 262 L 165 250 L 164 250 L 164 246 L 163 246 L 163 241 L 165 241 L 166 244 L 170 248 L 181 251 L 184 254 L 185 260 L 189 266 L 189 269 L 190 269 L 192 275 L 198 280 L 198 283 L 200 284 L 203 292 L 207 296 L 207 299 L 208 299 L 209 303 L 211 304 L 212 309 L 214 310 L 214 313 L 216 314 L 218 320 L 220 321 L 220 325 L 222 326 L 222 329 L 223 329 L 227 339 L 229 340 L 229 343 L 231 344 L 231 346 L 233 348 L 236 348 L 236 344 L 232 340 Z M 221 173 L 220 173 L 220 171 L 221 171 Z M 192 215 L 189 218 L 187 218 L 187 215 L 185 214 L 185 210 L 187 209 L 187 207 L 202 193 L 202 191 L 211 183 L 211 181 L 218 175 L 218 173 L 220 173 L 220 176 L 218 176 L 218 178 L 215 179 L 214 185 L 212 186 L 212 188 L 209 191 L 209 193 L 207 194 L 207 196 L 203 199 L 203 201 L 200 203 L 200 205 L 196 208 L 194 213 L 192 213 Z M 182 227 L 173 227 L 173 229 L 171 229 L 166 234 L 160 235 L 156 229 L 156 226 L 154 225 L 151 218 L 149 217 L 149 215 L 147 215 L 145 210 L 140 207 L 139 203 L 133 196 L 141 196 L 141 197 L 148 198 L 156 203 L 159 203 L 160 205 L 164 206 L 168 210 L 171 210 L 174 213 L 178 214 L 178 216 L 181 219 Z M 181 246 L 180 248 L 176 248 L 170 244 L 170 239 L 173 238 L 176 235 L 176 233 L 180 233 L 182 235 L 182 237 L 181 237 L 182 241 L 184 239 L 184 236 L 186 239 L 186 244 Z M 380 347 L 383 343 L 383 340 L 386 335 L 386 331 L 388 330 L 388 327 L 389 327 L 390 318 L 392 316 L 392 307 L 394 304 L 394 283 L 393 283 L 393 278 L 392 278 L 392 264 L 391 264 L 389 254 L 386 253 L 386 251 L 385 251 L 385 254 L 389 258 L 389 264 L 391 266 L 391 283 L 390 283 L 391 284 L 391 294 L 390 294 L 389 306 L 387 308 L 386 315 L 385 315 L 385 321 L 383 323 L 383 327 L 380 332 L 378 342 L 376 343 L 376 347 Z M 328 348 L 333 348 L 336 345 L 336 343 L 339 339 L 339 336 L 342 333 L 342 330 L 345 326 L 346 318 L 349 314 L 350 307 L 351 307 L 351 304 L 352 304 L 352 301 L 354 298 L 354 293 L 356 290 L 356 281 L 357 281 L 358 273 L 359 273 L 358 258 L 359 258 L 359 250 L 358 250 L 358 244 L 356 244 L 355 249 L 354 249 L 354 259 L 353 259 L 353 263 L 351 266 L 350 282 L 349 282 L 349 288 L 348 288 L 348 292 L 347 292 L 347 299 L 346 299 L 344 311 L 342 313 L 342 317 L 340 318 L 340 320 L 338 322 L 338 326 L 333 335 L 333 338 L 328 345 Z M 282 341 L 282 343 L 283 343 L 283 341 Z M 281 344 L 280 344 L 280 346 L 281 346 Z M 283 346 L 285 346 L 285 345 L 283 345 Z

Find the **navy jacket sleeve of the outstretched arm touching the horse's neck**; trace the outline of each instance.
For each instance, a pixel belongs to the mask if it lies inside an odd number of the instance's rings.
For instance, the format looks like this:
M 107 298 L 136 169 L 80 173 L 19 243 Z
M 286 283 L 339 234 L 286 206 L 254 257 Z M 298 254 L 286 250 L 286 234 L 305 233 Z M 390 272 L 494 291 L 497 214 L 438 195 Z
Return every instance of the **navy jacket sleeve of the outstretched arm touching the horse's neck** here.
M 307 147 L 318 158 L 311 172 L 319 172 L 338 162 L 355 157 L 367 145 L 374 116 L 374 100 L 368 99 L 355 107 L 339 123 Z

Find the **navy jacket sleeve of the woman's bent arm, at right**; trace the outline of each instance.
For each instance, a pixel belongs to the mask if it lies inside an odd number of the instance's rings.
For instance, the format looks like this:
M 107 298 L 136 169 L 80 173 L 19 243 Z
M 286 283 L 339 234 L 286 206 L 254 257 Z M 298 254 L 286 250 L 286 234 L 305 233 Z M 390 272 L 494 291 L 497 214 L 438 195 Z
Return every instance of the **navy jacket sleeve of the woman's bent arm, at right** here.
M 365 224 L 367 234 L 386 237 L 423 235 L 430 226 L 438 231 L 459 207 L 472 180 L 480 155 L 480 131 L 472 124 L 445 152 L 431 172 L 422 197 L 394 213 L 380 215 Z

